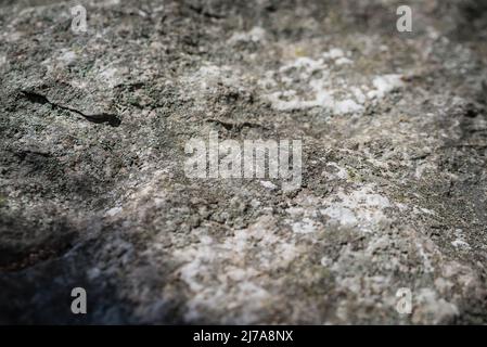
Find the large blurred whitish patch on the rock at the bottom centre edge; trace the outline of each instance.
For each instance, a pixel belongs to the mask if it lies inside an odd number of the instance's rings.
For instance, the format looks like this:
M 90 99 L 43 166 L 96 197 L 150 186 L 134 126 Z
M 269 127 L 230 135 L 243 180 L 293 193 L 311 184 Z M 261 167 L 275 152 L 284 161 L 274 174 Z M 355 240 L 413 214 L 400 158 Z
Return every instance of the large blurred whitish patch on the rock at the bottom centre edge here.
M 192 292 L 184 314 L 188 321 L 204 317 L 208 309 L 228 311 L 233 303 L 240 305 L 239 322 L 252 323 L 258 319 L 259 310 L 271 299 L 258 284 L 259 274 L 285 268 L 299 254 L 296 245 L 278 235 L 274 228 L 274 219 L 264 216 L 221 241 L 195 230 L 200 242 L 174 252 L 175 259 L 182 262 L 179 277 Z M 251 266 L 248 260 L 256 249 L 259 252 Z M 222 269 L 217 278 L 215 268 Z

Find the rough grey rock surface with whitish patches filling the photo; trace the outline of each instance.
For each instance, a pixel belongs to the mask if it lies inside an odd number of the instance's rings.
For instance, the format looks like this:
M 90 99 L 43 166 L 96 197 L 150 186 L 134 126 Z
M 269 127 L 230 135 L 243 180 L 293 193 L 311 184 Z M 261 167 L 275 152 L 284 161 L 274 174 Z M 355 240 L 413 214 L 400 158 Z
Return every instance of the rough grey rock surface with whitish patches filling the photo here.
M 485 1 L 0 3 L 0 323 L 487 323 Z M 187 178 L 210 130 L 302 188 Z

